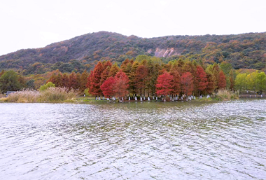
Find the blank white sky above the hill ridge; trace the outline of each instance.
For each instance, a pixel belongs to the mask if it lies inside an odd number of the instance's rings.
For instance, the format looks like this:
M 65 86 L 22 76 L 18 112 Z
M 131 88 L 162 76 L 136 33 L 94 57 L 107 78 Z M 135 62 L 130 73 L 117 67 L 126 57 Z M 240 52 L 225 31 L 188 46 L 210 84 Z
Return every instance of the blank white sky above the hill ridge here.
M 265 0 L 0 0 L 0 55 L 87 33 L 123 35 L 266 32 Z

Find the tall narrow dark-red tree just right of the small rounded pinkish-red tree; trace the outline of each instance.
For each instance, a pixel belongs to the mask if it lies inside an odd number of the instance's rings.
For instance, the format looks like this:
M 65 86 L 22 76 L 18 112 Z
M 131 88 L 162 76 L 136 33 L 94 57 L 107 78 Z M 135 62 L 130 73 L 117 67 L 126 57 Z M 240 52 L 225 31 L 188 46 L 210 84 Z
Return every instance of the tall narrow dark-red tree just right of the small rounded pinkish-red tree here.
M 197 66 L 197 73 L 196 73 L 196 83 L 197 90 L 200 92 L 204 91 L 207 88 L 208 81 L 207 81 L 207 74 L 205 73 L 204 69 L 201 66 Z

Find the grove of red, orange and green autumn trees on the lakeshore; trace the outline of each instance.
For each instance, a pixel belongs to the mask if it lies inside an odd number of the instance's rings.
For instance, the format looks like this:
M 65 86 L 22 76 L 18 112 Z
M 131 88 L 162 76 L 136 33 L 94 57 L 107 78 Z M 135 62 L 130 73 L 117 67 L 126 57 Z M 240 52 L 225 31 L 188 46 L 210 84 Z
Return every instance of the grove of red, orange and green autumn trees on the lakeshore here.
M 225 69 L 227 70 L 227 69 Z M 98 62 L 94 69 L 83 74 L 52 74 L 48 81 L 56 86 L 88 89 L 90 95 L 104 97 L 207 95 L 227 87 L 232 76 L 218 64 L 204 66 L 189 60 L 175 60 L 167 64 L 160 59 L 142 55 L 121 64 Z M 232 85 L 228 85 L 230 87 Z

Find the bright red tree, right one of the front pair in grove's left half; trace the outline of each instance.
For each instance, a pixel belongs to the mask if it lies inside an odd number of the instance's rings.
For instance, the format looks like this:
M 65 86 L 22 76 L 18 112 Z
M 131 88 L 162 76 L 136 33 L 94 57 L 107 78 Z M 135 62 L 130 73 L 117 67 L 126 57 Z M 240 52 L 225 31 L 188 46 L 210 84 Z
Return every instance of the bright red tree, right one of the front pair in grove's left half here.
M 118 98 L 125 97 L 128 94 L 127 89 L 129 88 L 129 81 L 130 79 L 128 76 L 122 71 L 118 71 L 118 73 L 115 76 L 115 84 L 113 91 L 116 92 L 116 96 Z

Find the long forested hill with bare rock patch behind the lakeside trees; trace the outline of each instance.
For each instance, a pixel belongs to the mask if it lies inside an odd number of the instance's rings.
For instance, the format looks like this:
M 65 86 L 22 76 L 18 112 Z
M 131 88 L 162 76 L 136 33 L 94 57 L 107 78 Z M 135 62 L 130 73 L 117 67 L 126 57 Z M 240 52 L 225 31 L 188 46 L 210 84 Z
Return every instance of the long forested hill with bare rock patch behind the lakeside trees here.
M 230 62 L 235 69 L 266 69 L 266 32 L 238 35 L 163 36 L 140 38 L 111 32 L 97 32 L 52 43 L 44 48 L 18 50 L 0 56 L 1 69 L 25 74 L 72 67 L 92 67 L 99 60 L 120 64 L 137 55 L 162 57 L 165 62 L 197 54 L 203 62 Z M 72 67 L 70 67 L 72 66 Z M 36 67 L 42 67 L 36 71 Z M 76 68 L 76 67 L 75 67 Z M 31 70 L 30 70 L 31 69 Z M 63 69 L 63 71 L 64 71 Z M 83 68 L 84 69 L 84 68 Z

